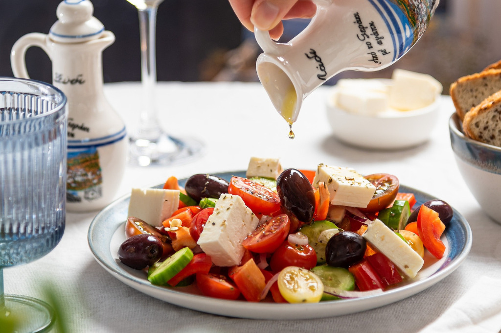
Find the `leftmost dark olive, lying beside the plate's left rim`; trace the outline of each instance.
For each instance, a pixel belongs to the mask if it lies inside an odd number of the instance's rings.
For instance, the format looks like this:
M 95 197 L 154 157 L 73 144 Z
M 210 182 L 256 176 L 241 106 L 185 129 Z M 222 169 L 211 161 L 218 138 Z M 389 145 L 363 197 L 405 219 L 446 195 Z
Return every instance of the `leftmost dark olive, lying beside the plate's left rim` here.
M 140 234 L 127 238 L 118 249 L 118 259 L 134 269 L 153 265 L 162 257 L 162 243 L 153 235 Z

